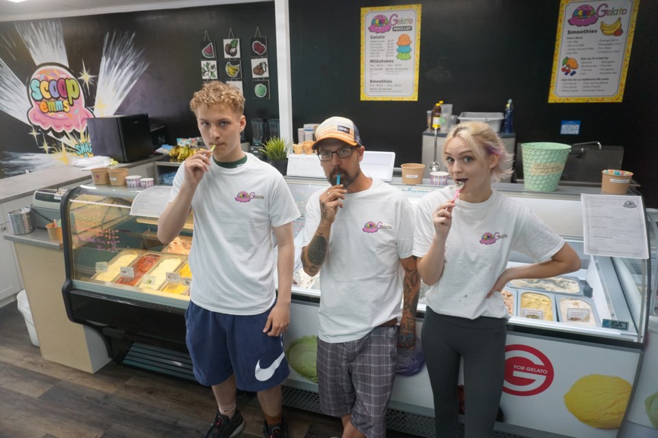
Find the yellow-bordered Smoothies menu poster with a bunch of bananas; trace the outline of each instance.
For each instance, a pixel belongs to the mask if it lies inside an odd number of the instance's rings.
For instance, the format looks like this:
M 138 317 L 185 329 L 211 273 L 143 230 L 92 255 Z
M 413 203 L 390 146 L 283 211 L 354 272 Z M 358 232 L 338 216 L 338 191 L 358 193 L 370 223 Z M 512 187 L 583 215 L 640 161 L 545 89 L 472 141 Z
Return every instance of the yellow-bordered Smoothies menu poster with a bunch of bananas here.
M 549 103 L 621 102 L 639 0 L 562 0 Z

